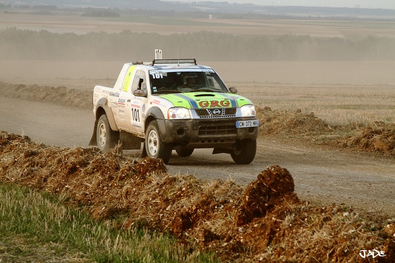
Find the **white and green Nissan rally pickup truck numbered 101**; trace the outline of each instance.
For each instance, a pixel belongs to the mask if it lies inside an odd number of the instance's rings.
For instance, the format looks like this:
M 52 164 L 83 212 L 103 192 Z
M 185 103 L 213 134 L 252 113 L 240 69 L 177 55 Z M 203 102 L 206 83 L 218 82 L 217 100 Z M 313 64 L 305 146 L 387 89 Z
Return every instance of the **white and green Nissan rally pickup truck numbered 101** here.
M 96 121 L 89 145 L 107 152 L 116 145 L 168 163 L 172 150 L 229 153 L 252 162 L 259 121 L 250 100 L 227 88 L 216 72 L 196 59 L 155 59 L 124 64 L 113 88 L 93 91 Z

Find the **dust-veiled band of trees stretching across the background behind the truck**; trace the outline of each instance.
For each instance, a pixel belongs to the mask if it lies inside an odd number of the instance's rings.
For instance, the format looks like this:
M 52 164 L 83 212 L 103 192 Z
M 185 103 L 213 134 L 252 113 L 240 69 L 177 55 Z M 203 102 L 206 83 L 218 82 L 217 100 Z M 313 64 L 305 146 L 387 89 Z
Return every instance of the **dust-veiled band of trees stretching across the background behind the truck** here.
M 172 34 L 51 33 L 6 28 L 0 31 L 0 59 L 150 61 L 155 49 L 165 58 L 199 61 L 394 60 L 395 38 L 313 38 L 282 35 L 235 36 L 200 31 Z

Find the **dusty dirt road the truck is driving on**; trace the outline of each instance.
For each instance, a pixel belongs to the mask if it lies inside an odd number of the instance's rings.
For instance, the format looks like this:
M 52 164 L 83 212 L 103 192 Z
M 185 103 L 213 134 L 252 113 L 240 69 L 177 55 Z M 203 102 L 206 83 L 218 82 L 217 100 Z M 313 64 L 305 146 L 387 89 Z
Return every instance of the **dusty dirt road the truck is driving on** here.
M 90 110 L 72 109 L 0 97 L 0 130 L 29 136 L 37 143 L 59 147 L 88 147 L 93 129 Z M 125 151 L 138 156 L 139 151 Z M 182 158 L 173 151 L 170 174 L 248 184 L 266 167 L 278 164 L 289 170 L 300 199 L 351 205 L 373 219 L 395 219 L 395 160 L 376 154 L 322 149 L 315 145 L 258 141 L 257 156 L 249 165 L 235 164 L 228 154 L 195 150 Z

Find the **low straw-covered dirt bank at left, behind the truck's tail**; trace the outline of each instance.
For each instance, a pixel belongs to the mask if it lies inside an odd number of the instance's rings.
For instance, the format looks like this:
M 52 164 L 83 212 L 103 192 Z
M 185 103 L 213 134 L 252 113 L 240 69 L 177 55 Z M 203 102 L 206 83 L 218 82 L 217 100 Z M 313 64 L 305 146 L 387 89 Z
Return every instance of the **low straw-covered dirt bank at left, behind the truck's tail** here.
M 37 102 L 50 102 L 61 106 L 92 109 L 92 91 L 69 89 L 63 86 L 10 84 L 0 82 L 1 96 Z

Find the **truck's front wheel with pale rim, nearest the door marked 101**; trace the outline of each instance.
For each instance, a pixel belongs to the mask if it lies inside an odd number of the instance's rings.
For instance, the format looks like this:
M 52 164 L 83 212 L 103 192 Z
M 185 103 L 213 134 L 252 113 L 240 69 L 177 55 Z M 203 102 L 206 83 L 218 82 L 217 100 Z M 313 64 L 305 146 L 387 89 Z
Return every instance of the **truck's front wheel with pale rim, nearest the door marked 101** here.
M 165 144 L 160 139 L 160 133 L 158 129 L 158 123 L 153 120 L 148 124 L 146 130 L 146 138 L 144 141 L 145 149 L 148 157 L 160 158 L 165 164 L 170 160 L 171 156 L 171 145 Z

